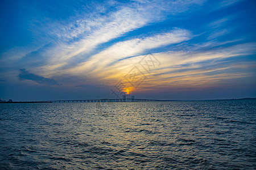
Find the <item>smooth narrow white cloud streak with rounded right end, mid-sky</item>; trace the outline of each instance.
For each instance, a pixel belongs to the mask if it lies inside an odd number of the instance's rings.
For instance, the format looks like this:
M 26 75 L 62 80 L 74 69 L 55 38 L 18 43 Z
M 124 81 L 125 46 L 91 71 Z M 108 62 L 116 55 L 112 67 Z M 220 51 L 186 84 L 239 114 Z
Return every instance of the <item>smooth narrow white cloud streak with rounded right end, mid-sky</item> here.
M 108 66 L 110 63 L 117 62 L 119 59 L 138 56 L 149 49 L 158 48 L 159 46 L 167 44 L 176 44 L 189 40 L 191 37 L 192 35 L 189 31 L 176 28 L 170 32 L 144 37 L 144 39 L 117 42 L 108 49 L 92 56 L 89 61 L 82 63 L 81 66 L 75 68 L 75 70 L 81 69 L 85 71 L 96 66 L 96 70 L 101 71 L 103 67 Z

